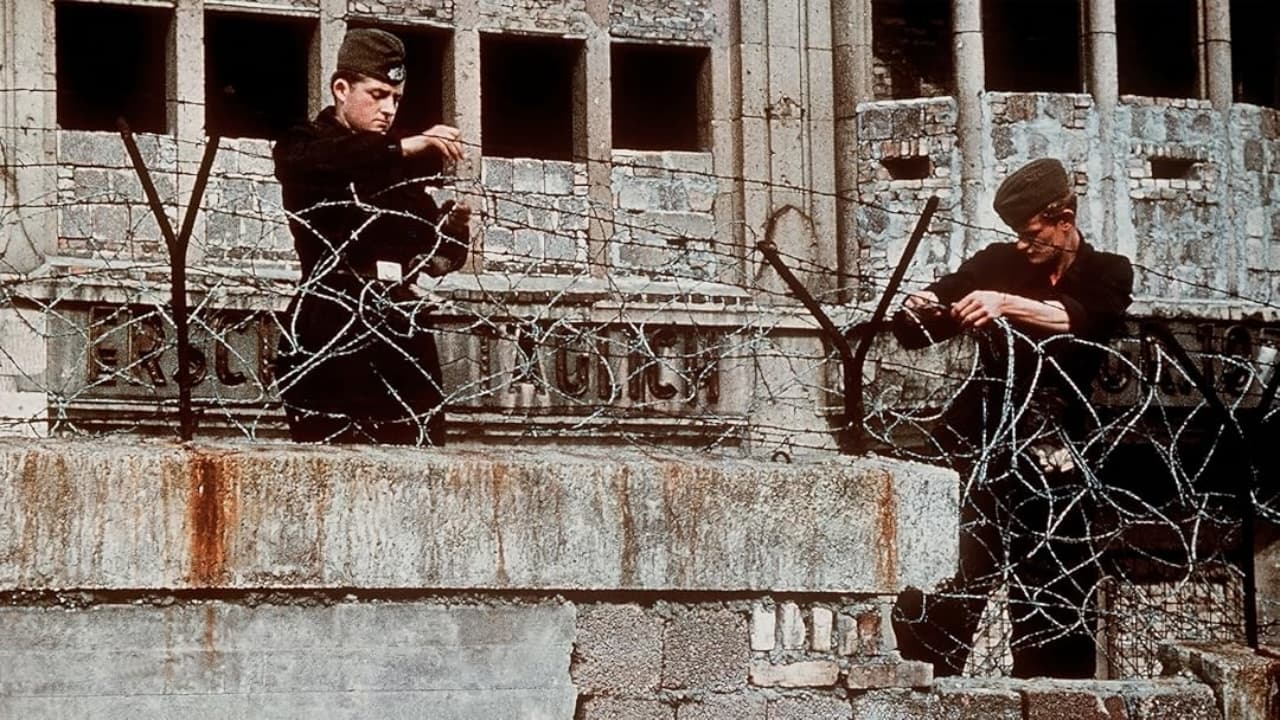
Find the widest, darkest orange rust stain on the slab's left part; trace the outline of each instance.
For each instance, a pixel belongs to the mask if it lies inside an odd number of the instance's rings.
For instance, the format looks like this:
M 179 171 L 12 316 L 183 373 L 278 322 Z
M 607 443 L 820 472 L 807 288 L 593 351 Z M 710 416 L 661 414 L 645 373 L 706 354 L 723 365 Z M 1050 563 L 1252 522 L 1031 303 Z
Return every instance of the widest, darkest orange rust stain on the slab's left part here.
M 193 454 L 187 500 L 191 571 L 187 582 L 214 587 L 227 580 L 228 539 L 237 520 L 236 478 L 230 465 L 212 455 Z

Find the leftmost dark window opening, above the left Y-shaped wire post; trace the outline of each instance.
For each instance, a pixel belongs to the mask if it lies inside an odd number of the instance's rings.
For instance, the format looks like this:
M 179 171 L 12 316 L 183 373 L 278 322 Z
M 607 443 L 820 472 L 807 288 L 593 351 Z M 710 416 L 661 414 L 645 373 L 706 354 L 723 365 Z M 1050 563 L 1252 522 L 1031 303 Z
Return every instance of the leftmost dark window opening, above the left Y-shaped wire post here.
M 59 127 L 115 131 L 124 118 L 134 132 L 166 132 L 172 17 L 160 8 L 59 3 Z

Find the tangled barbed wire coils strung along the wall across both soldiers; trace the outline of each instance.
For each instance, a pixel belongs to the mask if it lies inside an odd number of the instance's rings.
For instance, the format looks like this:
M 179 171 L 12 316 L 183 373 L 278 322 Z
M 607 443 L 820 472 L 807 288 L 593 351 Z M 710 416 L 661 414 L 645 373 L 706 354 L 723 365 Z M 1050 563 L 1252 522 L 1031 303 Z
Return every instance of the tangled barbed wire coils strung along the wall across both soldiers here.
M 223 152 L 269 161 L 265 147 L 253 145 Z M 6 167 L 15 161 L 8 152 L 5 159 Z M 680 178 L 716 183 L 717 195 L 721 183 L 751 186 L 915 217 L 905 205 L 854 193 L 634 158 L 588 160 L 664 173 L 677 184 Z M 23 167 L 65 172 L 68 165 Z M 170 195 L 195 179 L 184 167 L 164 172 Z M 844 301 L 845 282 L 883 293 L 887 270 L 878 264 L 835 268 L 783 243 L 782 259 L 810 279 L 838 328 L 874 336 L 863 384 L 865 415 L 845 418 L 846 378 L 831 338 L 818 336 L 754 252 L 723 243 L 735 233 L 765 240 L 753 234 L 763 228 L 739 219 L 726 233 L 710 211 L 678 210 L 710 225 L 703 228 L 705 237 L 689 237 L 662 211 L 628 213 L 573 182 L 554 197 L 449 176 L 410 182 L 431 186 L 438 199 L 475 202 L 472 225 L 489 233 L 483 261 L 440 279 L 364 277 L 334 287 L 317 278 L 343 270 L 334 260 L 362 242 L 364 232 L 372 233 L 369 223 L 419 223 L 424 237 L 438 238 L 443 218 L 406 215 L 369 199 L 292 214 L 275 197 L 253 197 L 247 208 L 220 195 L 206 201 L 205 232 L 193 237 L 196 260 L 188 268 L 198 434 L 284 437 L 293 407 L 282 401 L 282 389 L 326 363 L 364 359 L 370 346 L 396 348 L 403 360 L 404 373 L 383 378 L 383 389 L 408 419 L 413 442 L 431 439 L 438 406 L 448 414 L 452 441 L 621 442 L 640 452 L 684 446 L 780 461 L 833 454 L 840 433 L 855 424 L 868 450 L 947 465 L 961 478 L 963 571 L 916 598 L 916 606 L 902 601 L 904 652 L 955 671 L 1009 674 L 1023 671 L 1019 664 L 1037 648 L 1084 637 L 1107 660 L 1108 673 L 1130 676 L 1158 670 L 1142 646 L 1171 632 L 1242 635 L 1245 570 L 1235 551 L 1243 532 L 1236 486 L 1244 484 L 1260 518 L 1280 521 L 1280 503 L 1258 482 L 1270 460 L 1253 457 L 1238 438 L 1242 429 L 1274 428 L 1280 418 L 1275 404 L 1258 409 L 1277 373 L 1280 328 L 1274 323 L 1224 325 L 1208 334 L 1178 328 L 1226 398 L 1224 419 L 1197 393 L 1176 356 L 1144 334 L 1139 319 L 1129 319 L 1126 334 L 1112 343 L 1041 337 L 997 322 L 906 354 L 882 328 L 861 327 L 868 313 Z M 29 434 L 172 436 L 175 320 L 166 297 L 166 249 L 143 211 L 146 202 L 141 193 L 129 195 L 132 186 L 108 193 L 74 179 L 70 187 L 55 186 L 44 197 L 4 208 L 0 222 L 47 213 L 67 223 L 68 211 L 86 206 L 131 210 L 115 234 L 91 227 L 82 247 L 60 245 L 65 252 L 55 258 L 56 268 L 9 273 L 0 282 L 0 332 L 13 338 L 0 346 L 0 382 L 8 383 L 0 384 L 0 427 Z M 573 202 L 558 204 L 563 199 Z M 511 211 L 499 211 L 499 202 Z M 306 225 L 312 213 L 352 208 L 367 213 L 365 229 L 349 237 L 315 232 L 329 260 L 296 287 L 289 223 Z M 963 227 L 983 240 L 1015 237 L 951 217 L 957 210 L 952 204 L 933 219 L 931 227 L 946 228 L 937 234 L 950 237 L 952 227 Z M 554 213 L 554 222 L 534 220 L 534 211 Z M 209 231 L 228 219 L 236 223 L 232 231 Z M 589 237 L 590 223 L 611 229 L 604 255 Z M 527 245 L 512 240 L 497 252 L 493 228 L 524 232 Z M 401 268 L 403 277 L 425 270 L 438 247 L 419 250 Z M 630 254 L 643 261 L 628 265 Z M 918 259 L 904 291 L 925 288 L 933 278 L 922 275 L 945 270 L 947 261 Z M 1268 299 L 1134 266 L 1251 309 L 1276 307 Z M 342 332 L 320 347 L 303 347 L 300 313 L 289 306 L 294 296 L 324 302 Z M 439 375 L 410 351 L 416 346 L 406 345 L 419 337 L 438 343 Z M 35 345 L 46 348 L 44 365 L 29 356 Z M 302 350 L 284 366 L 278 347 Z M 991 352 L 1027 363 L 993 372 L 983 355 Z M 1061 359 L 1075 354 L 1098 356 L 1103 369 L 1091 384 L 1064 370 Z M 434 386 L 439 404 L 424 410 L 411 396 L 417 386 Z M 1042 397 L 1047 391 L 1057 392 L 1056 401 Z

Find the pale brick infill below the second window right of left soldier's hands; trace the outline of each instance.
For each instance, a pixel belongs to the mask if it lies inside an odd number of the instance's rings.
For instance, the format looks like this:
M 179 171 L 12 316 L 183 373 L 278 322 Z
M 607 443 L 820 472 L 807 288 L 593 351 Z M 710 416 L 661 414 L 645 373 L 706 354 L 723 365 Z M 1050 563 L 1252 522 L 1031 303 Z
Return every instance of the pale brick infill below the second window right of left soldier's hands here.
M 614 268 L 714 279 L 732 266 L 714 241 L 712 163 L 710 152 L 613 152 Z

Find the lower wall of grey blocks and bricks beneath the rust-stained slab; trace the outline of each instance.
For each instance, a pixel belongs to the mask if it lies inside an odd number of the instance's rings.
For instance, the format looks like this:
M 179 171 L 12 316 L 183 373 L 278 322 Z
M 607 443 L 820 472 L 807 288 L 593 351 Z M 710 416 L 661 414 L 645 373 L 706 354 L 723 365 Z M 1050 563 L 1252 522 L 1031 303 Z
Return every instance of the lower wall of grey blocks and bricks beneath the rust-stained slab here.
M 1196 647 L 1171 648 L 1170 662 L 1204 680 L 931 680 L 919 664 L 874 659 L 838 673 L 822 660 L 769 671 L 755 660 L 759 626 L 748 614 L 740 601 L 366 591 L 223 600 L 154 593 L 125 602 L 5 594 L 0 714 L 329 720 L 430 708 L 444 720 L 1238 720 L 1262 717 L 1248 712 L 1268 702 L 1249 673 L 1274 673 L 1244 653 Z M 778 619 L 778 643 L 792 632 L 785 623 Z

